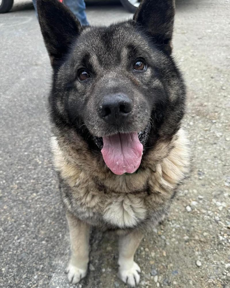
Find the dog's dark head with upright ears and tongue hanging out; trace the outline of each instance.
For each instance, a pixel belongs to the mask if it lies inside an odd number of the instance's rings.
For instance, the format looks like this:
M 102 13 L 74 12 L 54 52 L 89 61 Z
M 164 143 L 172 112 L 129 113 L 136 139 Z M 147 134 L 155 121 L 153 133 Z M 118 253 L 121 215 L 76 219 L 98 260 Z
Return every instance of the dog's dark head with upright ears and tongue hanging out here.
M 54 122 L 101 150 L 115 174 L 133 173 L 143 147 L 170 138 L 183 116 L 183 82 L 170 56 L 174 1 L 143 0 L 133 20 L 108 27 L 82 27 L 57 0 L 37 7 L 54 71 Z

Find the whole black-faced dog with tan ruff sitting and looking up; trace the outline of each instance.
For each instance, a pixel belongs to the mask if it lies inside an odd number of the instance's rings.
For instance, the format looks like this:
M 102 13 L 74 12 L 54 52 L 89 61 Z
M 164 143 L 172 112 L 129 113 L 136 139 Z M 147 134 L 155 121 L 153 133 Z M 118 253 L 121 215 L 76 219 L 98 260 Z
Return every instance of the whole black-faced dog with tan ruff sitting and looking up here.
M 81 26 L 37 1 L 53 68 L 54 164 L 70 231 L 70 283 L 87 274 L 91 226 L 119 235 L 118 275 L 131 287 L 144 233 L 168 214 L 189 171 L 186 89 L 172 52 L 175 3 L 143 0 L 132 20 Z

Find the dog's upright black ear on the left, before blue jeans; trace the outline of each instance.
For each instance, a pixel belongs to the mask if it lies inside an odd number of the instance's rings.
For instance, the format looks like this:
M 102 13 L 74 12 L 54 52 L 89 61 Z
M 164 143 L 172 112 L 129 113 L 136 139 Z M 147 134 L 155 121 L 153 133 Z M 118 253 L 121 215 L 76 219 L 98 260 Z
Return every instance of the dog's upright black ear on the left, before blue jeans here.
M 39 24 L 53 68 L 81 33 L 81 24 L 58 0 L 37 0 Z

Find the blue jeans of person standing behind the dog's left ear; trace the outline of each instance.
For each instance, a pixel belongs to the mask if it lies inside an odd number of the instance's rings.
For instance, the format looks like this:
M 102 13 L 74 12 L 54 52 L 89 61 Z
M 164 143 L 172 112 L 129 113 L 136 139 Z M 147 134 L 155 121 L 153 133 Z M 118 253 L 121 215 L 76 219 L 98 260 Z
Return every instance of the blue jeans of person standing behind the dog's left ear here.
M 32 0 L 34 4 L 34 9 L 37 14 L 37 4 L 36 0 Z M 84 0 L 64 0 L 63 3 L 70 8 L 76 18 L 79 20 L 81 25 L 89 25 L 85 14 L 85 1 Z

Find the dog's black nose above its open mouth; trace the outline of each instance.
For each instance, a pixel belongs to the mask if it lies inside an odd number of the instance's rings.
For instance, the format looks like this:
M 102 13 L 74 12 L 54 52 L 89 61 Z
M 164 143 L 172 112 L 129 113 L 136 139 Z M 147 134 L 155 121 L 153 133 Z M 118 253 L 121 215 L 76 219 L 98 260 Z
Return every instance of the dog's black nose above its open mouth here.
M 99 116 L 109 124 L 120 124 L 132 111 L 132 101 L 124 95 L 108 95 L 99 105 Z

